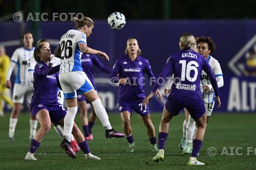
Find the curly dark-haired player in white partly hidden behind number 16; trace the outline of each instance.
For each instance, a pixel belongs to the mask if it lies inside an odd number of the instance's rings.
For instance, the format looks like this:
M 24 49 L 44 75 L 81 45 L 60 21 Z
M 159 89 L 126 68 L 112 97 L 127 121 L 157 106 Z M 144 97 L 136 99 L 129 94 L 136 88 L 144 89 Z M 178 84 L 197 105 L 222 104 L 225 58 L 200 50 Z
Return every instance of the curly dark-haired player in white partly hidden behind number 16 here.
M 210 55 L 215 52 L 215 43 L 211 40 L 210 37 L 199 37 L 197 39 L 197 50 L 198 53 L 203 55 L 209 62 L 209 65 L 211 66 L 211 69 L 218 81 L 218 87 L 222 87 L 224 85 L 224 81 L 220 63 Z M 200 79 L 201 97 L 204 102 L 207 115 L 206 123 L 208 123 L 209 117 L 215 105 L 215 93 L 212 89 L 212 85 L 210 84 L 209 76 L 205 73 L 205 71 L 202 71 Z M 185 114 L 187 121 L 184 120 L 183 123 L 184 130 L 180 143 L 180 149 L 183 149 L 184 154 L 189 154 L 192 150 L 191 143 L 193 141 L 193 136 L 197 127 L 194 119 L 189 116 L 187 110 L 185 110 Z

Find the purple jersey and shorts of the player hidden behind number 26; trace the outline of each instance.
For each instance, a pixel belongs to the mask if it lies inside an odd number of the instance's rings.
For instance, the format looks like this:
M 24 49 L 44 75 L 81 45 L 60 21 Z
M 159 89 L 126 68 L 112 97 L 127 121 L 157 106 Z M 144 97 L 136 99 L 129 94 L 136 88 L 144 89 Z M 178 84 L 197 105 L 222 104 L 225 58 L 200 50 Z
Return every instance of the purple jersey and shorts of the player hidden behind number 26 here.
M 103 72 L 111 74 L 111 69 L 104 66 L 98 59 L 98 55 L 95 55 L 95 54 L 82 54 L 81 65 L 82 65 L 83 72 L 86 73 L 88 79 L 91 81 L 94 87 L 94 90 L 97 90 L 97 89 L 94 82 L 93 65 L 96 65 Z M 90 103 L 82 94 L 77 95 L 77 101 L 78 102 L 87 101 L 88 103 Z

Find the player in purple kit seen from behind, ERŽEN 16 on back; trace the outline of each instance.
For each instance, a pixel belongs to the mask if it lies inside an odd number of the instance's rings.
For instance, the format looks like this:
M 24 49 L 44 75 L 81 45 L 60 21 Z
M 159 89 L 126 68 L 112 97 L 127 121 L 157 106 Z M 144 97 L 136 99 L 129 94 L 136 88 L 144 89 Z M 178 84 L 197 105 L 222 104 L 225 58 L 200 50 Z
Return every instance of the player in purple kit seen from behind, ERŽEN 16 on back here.
M 165 78 L 168 72 L 173 70 L 174 83 L 163 109 L 158 134 L 159 151 L 153 158 L 154 161 L 158 162 L 164 158 L 164 143 L 168 136 L 170 120 L 173 116 L 178 115 L 181 109 L 186 108 L 197 123 L 197 133 L 193 140 L 193 151 L 187 164 L 204 165 L 204 163 L 199 162 L 196 158 L 201 148 L 206 128 L 206 114 L 200 91 L 200 74 L 202 70 L 204 70 L 210 78 L 210 82 L 216 93 L 216 99 L 218 100 L 218 108 L 221 102 L 217 81 L 212 69 L 205 57 L 192 50 L 195 45 L 196 42 L 193 35 L 189 33 L 182 34 L 179 42 L 181 51 L 168 58 L 159 75 L 159 77 Z M 159 81 L 159 84 L 160 83 L 162 82 Z M 152 92 L 146 97 L 143 104 L 148 104 L 148 100 L 152 98 L 159 84 L 156 83 L 154 85 Z

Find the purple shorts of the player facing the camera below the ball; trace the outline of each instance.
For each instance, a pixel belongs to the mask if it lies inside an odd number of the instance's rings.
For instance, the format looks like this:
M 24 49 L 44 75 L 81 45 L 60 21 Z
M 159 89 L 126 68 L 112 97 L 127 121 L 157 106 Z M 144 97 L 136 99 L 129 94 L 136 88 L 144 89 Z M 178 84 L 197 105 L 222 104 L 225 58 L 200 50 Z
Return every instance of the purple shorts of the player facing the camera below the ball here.
M 143 106 L 142 102 L 143 101 L 138 103 L 119 102 L 119 111 L 120 113 L 123 111 L 129 111 L 132 114 L 134 109 L 141 116 L 146 116 L 147 114 L 150 114 L 150 110 L 148 108 L 148 105 Z

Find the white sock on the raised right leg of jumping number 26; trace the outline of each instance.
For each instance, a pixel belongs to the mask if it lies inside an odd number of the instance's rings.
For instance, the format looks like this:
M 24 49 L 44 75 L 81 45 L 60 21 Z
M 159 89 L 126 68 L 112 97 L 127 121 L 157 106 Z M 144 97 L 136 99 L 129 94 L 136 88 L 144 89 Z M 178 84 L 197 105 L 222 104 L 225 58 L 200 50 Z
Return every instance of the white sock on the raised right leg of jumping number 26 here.
M 102 126 L 105 129 L 112 129 L 110 121 L 109 121 L 109 116 L 106 113 L 105 108 L 103 107 L 101 100 L 100 99 L 96 99 L 95 101 L 92 102 L 94 111 L 96 113 L 96 115 L 99 117 L 100 122 L 102 124 Z

